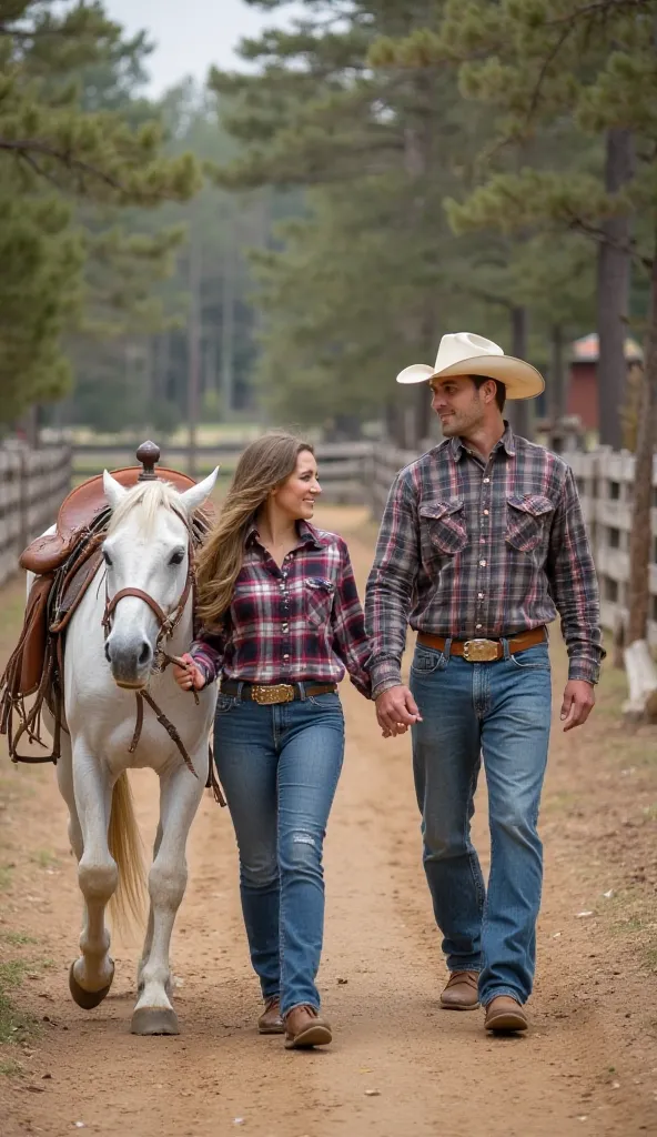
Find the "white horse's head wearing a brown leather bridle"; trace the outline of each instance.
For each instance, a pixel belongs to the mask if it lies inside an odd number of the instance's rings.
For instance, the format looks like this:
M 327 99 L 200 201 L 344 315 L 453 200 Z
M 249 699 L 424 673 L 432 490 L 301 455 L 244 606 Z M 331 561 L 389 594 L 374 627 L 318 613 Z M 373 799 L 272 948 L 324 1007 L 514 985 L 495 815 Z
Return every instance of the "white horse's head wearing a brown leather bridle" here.
M 217 470 L 178 493 L 160 481 L 140 482 L 126 490 L 103 473 L 113 511 L 102 546 L 111 615 L 105 654 L 119 687 L 139 689 L 148 683 L 163 619 L 174 616 L 185 597 L 188 522 L 211 493 L 216 478 Z M 124 591 L 127 595 L 119 596 Z

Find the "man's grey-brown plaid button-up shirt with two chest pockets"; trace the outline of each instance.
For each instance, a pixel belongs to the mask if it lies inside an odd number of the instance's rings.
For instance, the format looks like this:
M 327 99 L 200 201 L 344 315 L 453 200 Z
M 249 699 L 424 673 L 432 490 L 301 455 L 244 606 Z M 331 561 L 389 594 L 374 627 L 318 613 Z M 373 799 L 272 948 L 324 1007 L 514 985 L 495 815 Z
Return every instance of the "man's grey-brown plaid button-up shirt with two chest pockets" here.
M 373 698 L 401 682 L 408 623 L 499 638 L 559 613 L 569 678 L 597 682 L 598 584 L 569 466 L 508 423 L 488 463 L 452 438 L 406 466 L 383 514 L 365 612 Z

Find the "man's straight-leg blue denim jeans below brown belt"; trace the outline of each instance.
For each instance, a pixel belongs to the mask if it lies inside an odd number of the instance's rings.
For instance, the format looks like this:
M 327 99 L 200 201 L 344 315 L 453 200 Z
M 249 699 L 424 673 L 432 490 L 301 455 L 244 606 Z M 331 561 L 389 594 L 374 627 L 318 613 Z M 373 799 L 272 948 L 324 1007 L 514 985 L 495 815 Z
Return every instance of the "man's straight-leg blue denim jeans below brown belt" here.
M 492 663 L 416 646 L 410 688 L 424 869 L 450 971 L 479 971 L 481 1003 L 524 1003 L 535 970 L 542 845 L 537 824 L 551 712 L 547 644 Z M 483 756 L 489 792 L 488 894 L 469 836 Z

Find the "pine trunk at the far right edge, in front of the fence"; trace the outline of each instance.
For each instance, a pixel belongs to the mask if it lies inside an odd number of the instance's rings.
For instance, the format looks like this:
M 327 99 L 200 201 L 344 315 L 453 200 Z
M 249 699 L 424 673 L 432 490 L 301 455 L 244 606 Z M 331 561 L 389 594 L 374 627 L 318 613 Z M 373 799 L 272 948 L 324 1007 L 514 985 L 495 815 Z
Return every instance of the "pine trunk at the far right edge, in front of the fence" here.
M 630 582 L 627 644 L 643 640 L 650 611 L 650 561 L 652 551 L 652 463 L 657 448 L 657 243 L 652 262 L 648 335 L 646 340 L 641 413 L 637 437 L 632 529 L 630 532 Z

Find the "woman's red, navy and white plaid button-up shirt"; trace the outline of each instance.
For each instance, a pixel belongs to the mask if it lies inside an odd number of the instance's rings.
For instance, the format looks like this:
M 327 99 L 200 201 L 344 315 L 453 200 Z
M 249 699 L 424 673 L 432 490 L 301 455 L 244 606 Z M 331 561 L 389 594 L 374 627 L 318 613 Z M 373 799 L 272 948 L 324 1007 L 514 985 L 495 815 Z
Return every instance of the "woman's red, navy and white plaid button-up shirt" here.
M 223 674 L 339 683 L 347 670 L 369 698 L 371 644 L 347 545 L 307 522 L 298 528 L 299 543 L 280 568 L 251 526 L 224 628 L 202 631 L 190 654 L 208 682 Z

